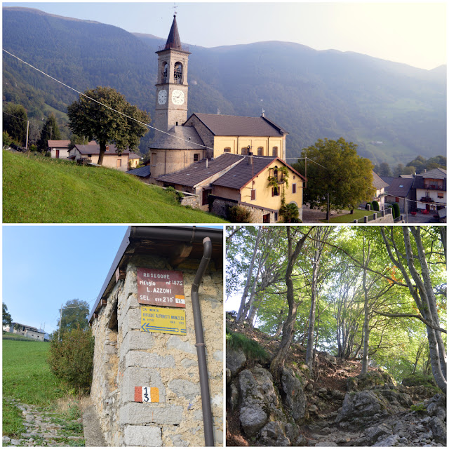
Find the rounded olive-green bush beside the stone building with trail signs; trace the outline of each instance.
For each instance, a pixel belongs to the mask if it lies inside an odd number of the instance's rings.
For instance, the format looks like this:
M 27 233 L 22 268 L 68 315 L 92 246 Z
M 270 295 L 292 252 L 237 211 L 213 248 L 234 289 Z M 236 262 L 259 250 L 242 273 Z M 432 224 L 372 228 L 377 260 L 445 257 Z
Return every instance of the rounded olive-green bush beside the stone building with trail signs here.
M 80 391 L 91 388 L 94 339 L 91 329 L 80 328 L 55 334 L 50 341 L 48 364 L 70 387 Z

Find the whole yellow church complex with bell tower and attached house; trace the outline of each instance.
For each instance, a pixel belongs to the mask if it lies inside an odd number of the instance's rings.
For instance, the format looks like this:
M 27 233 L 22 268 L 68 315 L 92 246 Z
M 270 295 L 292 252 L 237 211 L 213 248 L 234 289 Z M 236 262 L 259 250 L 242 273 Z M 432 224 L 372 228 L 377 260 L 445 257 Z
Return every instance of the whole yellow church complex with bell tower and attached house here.
M 198 196 L 196 206 L 225 215 L 227 206 L 248 208 L 253 222 L 278 222 L 295 203 L 302 219 L 305 178 L 286 161 L 288 132 L 264 116 L 194 113 L 187 118 L 189 51 L 176 16 L 158 55 L 155 138 L 148 169 L 129 174 Z M 284 173 L 285 172 L 285 173 Z M 282 175 L 281 175 L 282 173 Z

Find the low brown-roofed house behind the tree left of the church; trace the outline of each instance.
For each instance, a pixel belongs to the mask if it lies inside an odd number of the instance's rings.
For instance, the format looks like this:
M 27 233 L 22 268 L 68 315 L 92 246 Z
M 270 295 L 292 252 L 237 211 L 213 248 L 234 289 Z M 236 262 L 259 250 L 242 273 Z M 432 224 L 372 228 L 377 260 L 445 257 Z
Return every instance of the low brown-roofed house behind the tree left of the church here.
M 106 145 L 106 151 L 103 155 L 104 167 L 116 168 L 120 171 L 128 171 L 129 156 L 133 154 L 129 149 L 125 149 L 121 154 L 118 154 L 115 145 Z M 100 156 L 100 145 L 95 142 L 90 142 L 88 145 L 75 145 L 69 150 L 69 158 L 73 161 L 86 161 L 88 163 L 98 163 Z M 137 155 L 136 155 L 137 156 Z

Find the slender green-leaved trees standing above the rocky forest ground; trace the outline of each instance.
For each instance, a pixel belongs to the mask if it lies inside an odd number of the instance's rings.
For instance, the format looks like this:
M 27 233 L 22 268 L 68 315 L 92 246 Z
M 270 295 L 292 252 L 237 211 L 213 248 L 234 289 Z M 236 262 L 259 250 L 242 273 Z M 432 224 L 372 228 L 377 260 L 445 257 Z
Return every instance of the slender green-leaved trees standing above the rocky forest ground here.
M 227 295 L 236 320 L 290 344 L 384 366 L 398 379 L 445 368 L 445 229 L 438 227 L 234 227 L 227 236 Z

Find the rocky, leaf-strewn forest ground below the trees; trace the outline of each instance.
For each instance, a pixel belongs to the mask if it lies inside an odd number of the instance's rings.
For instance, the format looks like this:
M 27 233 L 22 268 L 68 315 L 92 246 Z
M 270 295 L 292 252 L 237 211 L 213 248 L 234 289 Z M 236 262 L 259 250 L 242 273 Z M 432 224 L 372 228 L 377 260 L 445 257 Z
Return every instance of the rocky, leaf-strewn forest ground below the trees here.
M 227 327 L 269 358 L 279 344 L 232 321 Z M 293 344 L 276 384 L 269 360 L 227 348 L 227 445 L 445 447 L 446 398 L 436 387 L 397 384 L 380 368 L 361 376 L 357 361 L 321 353 L 310 375 L 304 356 Z

